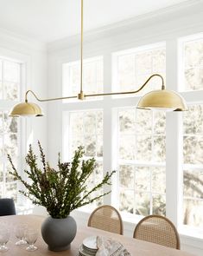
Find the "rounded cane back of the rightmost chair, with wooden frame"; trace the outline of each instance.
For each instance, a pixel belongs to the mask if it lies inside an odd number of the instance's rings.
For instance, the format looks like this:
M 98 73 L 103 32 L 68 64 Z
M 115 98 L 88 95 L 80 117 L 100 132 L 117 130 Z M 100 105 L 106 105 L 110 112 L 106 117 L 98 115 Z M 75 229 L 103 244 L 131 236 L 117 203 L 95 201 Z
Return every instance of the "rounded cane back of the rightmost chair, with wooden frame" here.
M 174 224 L 166 217 L 149 215 L 136 225 L 133 237 L 162 246 L 180 249 L 180 238 Z

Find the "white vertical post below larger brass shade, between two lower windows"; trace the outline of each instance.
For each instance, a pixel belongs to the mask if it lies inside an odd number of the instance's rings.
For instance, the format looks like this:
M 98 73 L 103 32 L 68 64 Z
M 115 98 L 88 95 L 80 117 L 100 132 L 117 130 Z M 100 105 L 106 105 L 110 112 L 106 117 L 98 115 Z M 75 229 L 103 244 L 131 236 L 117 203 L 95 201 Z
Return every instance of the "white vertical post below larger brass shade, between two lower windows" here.
M 181 113 L 168 113 L 166 138 L 167 217 L 178 226 L 182 216 L 182 136 Z

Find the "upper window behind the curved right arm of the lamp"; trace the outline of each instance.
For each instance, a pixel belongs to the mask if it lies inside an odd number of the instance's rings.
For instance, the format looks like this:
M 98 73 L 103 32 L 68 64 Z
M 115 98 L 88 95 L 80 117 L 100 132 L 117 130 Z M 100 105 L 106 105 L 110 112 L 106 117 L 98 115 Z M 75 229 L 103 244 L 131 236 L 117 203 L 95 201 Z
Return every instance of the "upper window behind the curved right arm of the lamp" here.
M 148 49 L 135 49 L 130 53 L 117 53 L 117 79 L 115 89 L 135 90 L 141 87 L 150 75 L 159 73 L 165 76 L 166 50 L 162 46 Z M 143 95 L 151 89 L 160 89 L 161 80 L 154 77 L 137 95 Z

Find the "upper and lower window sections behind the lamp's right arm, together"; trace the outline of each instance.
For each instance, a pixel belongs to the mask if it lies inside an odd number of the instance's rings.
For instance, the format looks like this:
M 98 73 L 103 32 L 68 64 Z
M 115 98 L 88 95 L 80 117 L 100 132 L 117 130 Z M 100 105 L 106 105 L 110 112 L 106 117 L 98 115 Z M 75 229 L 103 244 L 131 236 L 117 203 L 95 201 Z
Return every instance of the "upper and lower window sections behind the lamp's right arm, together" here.
M 115 56 L 118 89 L 138 89 L 155 73 L 165 76 L 166 50 L 162 43 L 118 52 Z M 160 89 L 159 79 L 152 79 L 138 95 Z M 145 216 L 165 215 L 166 115 L 135 107 L 120 108 L 118 119 L 119 209 Z

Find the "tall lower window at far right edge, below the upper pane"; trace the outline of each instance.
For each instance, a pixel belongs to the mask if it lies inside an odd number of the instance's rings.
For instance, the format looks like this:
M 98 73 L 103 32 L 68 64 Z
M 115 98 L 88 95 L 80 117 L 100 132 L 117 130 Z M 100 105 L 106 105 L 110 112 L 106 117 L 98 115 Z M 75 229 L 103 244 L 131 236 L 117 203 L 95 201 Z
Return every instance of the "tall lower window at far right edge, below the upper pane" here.
M 203 226 L 203 105 L 183 115 L 183 224 Z

